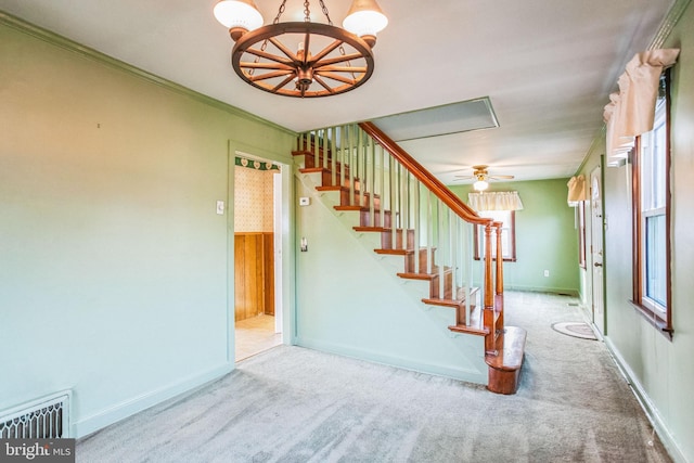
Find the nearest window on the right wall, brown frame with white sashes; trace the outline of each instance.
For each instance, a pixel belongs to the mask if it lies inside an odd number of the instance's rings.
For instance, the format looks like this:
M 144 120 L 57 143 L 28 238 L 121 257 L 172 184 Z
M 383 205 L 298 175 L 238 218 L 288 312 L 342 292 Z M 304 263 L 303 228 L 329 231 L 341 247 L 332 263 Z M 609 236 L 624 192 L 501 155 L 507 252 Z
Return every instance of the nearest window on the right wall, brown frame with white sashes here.
M 637 138 L 633 164 L 633 304 L 671 336 L 669 73 L 660 78 L 653 130 Z

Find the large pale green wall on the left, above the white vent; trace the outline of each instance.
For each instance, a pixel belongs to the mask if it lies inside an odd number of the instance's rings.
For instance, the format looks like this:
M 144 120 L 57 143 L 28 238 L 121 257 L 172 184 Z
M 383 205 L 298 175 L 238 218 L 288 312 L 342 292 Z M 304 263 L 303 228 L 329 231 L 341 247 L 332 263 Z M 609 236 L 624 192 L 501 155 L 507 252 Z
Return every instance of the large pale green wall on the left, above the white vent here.
M 295 138 L 69 47 L 0 14 L 0 410 L 81 436 L 233 368 L 230 146 Z

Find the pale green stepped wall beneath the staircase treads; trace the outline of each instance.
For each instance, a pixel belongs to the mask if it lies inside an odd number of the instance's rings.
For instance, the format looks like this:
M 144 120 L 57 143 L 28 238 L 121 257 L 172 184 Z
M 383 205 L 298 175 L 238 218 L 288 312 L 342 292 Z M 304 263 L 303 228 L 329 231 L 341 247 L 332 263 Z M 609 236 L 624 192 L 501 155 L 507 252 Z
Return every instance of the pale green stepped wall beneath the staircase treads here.
M 486 384 L 484 337 L 453 334 L 454 309 L 427 307 L 428 282 L 403 280 L 402 256 L 381 256 L 378 233 L 357 233 L 358 213 L 336 213 L 320 175 L 297 173 L 296 343 L 364 360 Z

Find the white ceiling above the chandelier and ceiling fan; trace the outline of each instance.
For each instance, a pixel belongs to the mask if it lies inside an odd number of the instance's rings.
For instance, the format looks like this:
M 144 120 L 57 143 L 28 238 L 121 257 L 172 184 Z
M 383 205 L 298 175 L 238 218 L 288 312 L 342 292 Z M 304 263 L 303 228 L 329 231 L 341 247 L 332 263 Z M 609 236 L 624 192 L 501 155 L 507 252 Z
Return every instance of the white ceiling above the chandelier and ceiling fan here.
M 340 24 L 350 0 L 324 1 Z M 255 2 L 271 22 L 280 0 Z M 601 130 L 617 77 L 651 44 L 673 0 L 378 0 L 389 25 L 372 78 L 306 100 L 236 77 L 215 3 L 0 0 L 0 10 L 296 131 L 487 97 L 500 127 L 400 143 L 453 183 L 478 164 L 516 180 L 570 177 Z M 297 21 L 301 10 L 301 0 L 287 0 L 283 18 Z M 323 21 L 318 1 L 311 11 Z

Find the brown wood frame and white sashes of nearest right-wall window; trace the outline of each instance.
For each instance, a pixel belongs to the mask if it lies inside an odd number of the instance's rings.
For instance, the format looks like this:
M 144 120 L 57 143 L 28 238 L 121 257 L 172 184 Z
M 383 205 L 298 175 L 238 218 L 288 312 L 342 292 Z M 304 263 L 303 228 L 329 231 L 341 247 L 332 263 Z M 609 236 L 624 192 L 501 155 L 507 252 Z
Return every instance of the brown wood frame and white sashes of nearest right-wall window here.
M 670 215 L 670 173 L 671 173 L 671 155 L 670 155 L 670 72 L 667 69 L 661 77 L 663 98 L 658 100 L 663 101 L 657 103 L 663 104 L 661 108 L 656 112 L 655 127 L 663 120 L 665 125 L 665 141 L 663 147 L 663 155 L 665 157 L 665 181 L 663 185 L 663 194 L 665 206 L 654 207 L 644 211 L 642 205 L 642 195 L 644 190 L 644 182 L 642 181 L 642 166 L 643 162 L 641 156 L 643 155 L 643 136 L 635 138 L 634 147 L 631 151 L 631 165 L 632 165 L 632 258 L 633 258 L 633 274 L 632 274 L 632 300 L 631 304 L 644 318 L 654 325 L 659 333 L 672 339 L 672 284 L 671 284 L 671 215 Z M 652 133 L 652 132 L 648 132 Z M 654 182 L 652 182 L 654 183 Z M 663 211 L 664 214 L 659 214 Z M 650 298 L 645 293 L 646 286 L 646 224 L 645 219 L 647 217 L 665 216 L 665 253 L 666 253 L 666 266 L 665 266 L 665 285 L 666 285 L 666 306 L 663 306 L 655 299 Z

